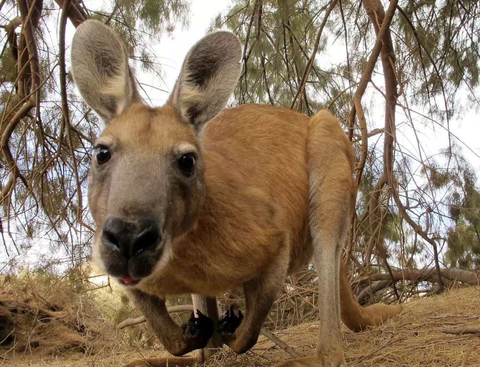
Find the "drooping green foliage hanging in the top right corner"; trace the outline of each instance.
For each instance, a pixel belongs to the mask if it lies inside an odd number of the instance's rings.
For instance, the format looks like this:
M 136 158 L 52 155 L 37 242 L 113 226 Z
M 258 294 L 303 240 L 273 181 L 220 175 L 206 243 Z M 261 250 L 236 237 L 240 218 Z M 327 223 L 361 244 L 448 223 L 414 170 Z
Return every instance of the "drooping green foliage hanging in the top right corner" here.
M 401 7 L 409 18 L 398 19 L 402 74 L 416 102 L 444 120 L 459 110 L 455 97 L 461 87 L 479 86 L 479 34 L 472 32 L 480 25 L 479 2 L 408 0 Z

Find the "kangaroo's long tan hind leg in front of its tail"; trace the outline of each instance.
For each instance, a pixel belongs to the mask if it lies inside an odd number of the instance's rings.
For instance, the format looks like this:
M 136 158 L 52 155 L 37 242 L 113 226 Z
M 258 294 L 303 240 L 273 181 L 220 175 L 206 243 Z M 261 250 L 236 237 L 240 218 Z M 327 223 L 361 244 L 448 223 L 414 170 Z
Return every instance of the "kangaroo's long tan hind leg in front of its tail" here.
M 352 146 L 338 120 L 320 111 L 309 121 L 309 232 L 318 273 L 320 335 L 315 354 L 277 367 L 345 367 L 340 332 L 340 253 L 353 207 Z

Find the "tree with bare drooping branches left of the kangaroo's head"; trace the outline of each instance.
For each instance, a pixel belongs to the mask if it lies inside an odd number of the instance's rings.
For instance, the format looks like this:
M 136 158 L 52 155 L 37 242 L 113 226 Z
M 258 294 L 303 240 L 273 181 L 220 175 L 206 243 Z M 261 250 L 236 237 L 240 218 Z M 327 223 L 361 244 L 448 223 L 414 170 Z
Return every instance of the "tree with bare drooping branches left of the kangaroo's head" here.
M 100 125 L 74 92 L 66 32 L 88 18 L 108 23 L 127 45 L 132 66 L 159 74 L 151 41 L 176 24 L 188 25 L 190 14 L 183 0 L 117 0 L 110 6 L 0 1 L 7 20 L 0 61 L 4 248 L 24 253 L 40 239 L 42 246 L 63 249 L 66 258 L 54 261 L 68 262 L 79 274 L 94 232 L 86 178 Z

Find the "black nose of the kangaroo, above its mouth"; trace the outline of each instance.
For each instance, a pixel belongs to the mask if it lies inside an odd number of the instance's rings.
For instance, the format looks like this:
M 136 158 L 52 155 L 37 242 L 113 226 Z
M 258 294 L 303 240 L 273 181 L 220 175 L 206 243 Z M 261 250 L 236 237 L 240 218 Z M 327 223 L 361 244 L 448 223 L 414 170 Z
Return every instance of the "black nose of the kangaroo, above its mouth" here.
M 127 220 L 111 215 L 103 224 L 103 244 L 120 250 L 127 258 L 146 248 L 155 248 L 161 239 L 158 223 L 153 216 Z

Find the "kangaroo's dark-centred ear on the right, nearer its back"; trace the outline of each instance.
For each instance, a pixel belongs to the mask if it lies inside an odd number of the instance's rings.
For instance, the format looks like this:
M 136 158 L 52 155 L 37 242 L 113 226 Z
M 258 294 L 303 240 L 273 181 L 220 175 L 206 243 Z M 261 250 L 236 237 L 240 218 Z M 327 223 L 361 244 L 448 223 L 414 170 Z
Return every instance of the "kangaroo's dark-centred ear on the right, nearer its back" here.
M 241 45 L 226 31 L 207 34 L 185 57 L 168 103 L 198 132 L 232 95 L 240 77 Z

